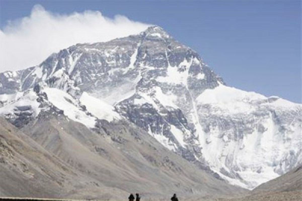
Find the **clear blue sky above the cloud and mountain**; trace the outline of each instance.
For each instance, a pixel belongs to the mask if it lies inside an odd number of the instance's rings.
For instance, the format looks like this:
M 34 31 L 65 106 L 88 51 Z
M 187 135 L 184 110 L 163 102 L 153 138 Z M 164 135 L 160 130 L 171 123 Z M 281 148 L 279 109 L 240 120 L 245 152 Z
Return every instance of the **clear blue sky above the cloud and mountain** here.
M 69 14 L 98 10 L 163 27 L 196 50 L 229 86 L 301 103 L 301 1 L 7 1 L 1 29 L 35 4 Z

